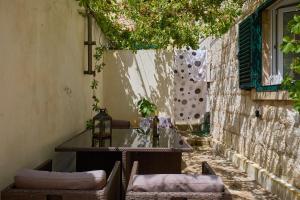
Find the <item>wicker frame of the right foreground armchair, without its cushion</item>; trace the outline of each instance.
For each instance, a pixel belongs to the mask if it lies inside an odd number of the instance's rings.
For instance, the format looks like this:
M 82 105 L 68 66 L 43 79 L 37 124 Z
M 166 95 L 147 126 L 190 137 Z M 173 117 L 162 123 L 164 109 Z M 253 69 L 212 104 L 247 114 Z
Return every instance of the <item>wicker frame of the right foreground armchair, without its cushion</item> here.
M 132 191 L 133 178 L 138 175 L 138 162 L 135 161 L 132 167 L 131 176 L 127 188 L 126 200 L 231 200 L 231 194 L 224 187 L 223 192 L 135 192 Z M 202 163 L 202 175 L 215 175 L 213 169 Z

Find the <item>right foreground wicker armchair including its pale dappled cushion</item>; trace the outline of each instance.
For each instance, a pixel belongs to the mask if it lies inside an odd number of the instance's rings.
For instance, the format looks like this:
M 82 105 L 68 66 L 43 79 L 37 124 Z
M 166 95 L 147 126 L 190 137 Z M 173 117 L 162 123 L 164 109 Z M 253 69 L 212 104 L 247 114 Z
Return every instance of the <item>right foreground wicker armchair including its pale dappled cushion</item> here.
M 212 168 L 202 163 L 202 174 L 138 173 L 138 162 L 132 167 L 126 200 L 218 200 L 231 199 L 222 179 Z

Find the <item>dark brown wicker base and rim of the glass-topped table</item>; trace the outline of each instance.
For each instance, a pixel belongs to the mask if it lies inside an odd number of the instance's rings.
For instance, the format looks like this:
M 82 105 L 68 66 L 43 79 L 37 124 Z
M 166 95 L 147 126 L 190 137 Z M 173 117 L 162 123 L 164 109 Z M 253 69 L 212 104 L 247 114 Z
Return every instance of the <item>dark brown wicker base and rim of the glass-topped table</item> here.
M 84 134 L 80 133 L 80 134 Z M 79 136 L 80 134 L 72 137 Z M 182 153 L 193 148 L 182 138 L 186 148 L 136 148 L 136 147 L 65 147 L 55 148 L 56 152 L 75 152 L 76 171 L 105 170 L 109 174 L 115 161 L 121 161 L 122 197 L 125 197 L 130 172 L 134 161 L 139 161 L 143 174 L 178 174 L 181 173 Z

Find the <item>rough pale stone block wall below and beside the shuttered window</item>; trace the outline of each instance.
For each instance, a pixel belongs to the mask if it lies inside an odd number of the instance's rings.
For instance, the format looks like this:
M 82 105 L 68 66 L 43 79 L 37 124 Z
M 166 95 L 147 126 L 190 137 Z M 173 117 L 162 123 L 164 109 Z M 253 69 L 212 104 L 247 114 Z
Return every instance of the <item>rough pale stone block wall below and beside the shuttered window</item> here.
M 244 16 L 258 4 L 259 1 L 247 1 Z M 223 37 L 201 42 L 201 47 L 208 50 L 213 79 L 209 96 L 215 147 L 219 153 L 230 150 L 239 154 L 270 176 L 275 175 L 299 189 L 298 114 L 292 102 L 284 100 L 288 98 L 283 92 L 239 89 L 237 39 L 238 25 L 235 25 Z M 261 117 L 255 117 L 256 110 Z

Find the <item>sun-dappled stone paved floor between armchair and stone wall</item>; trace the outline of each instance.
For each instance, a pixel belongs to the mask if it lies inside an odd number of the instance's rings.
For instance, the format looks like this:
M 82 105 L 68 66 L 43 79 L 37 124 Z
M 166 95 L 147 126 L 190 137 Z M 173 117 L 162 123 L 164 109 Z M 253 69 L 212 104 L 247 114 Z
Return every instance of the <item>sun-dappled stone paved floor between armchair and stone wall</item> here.
M 225 185 L 233 195 L 233 200 L 279 200 L 264 190 L 253 179 L 233 167 L 231 162 L 222 157 L 214 156 L 210 149 L 195 148 L 192 153 L 183 155 L 183 173 L 201 173 L 201 162 L 209 165 L 222 177 Z

